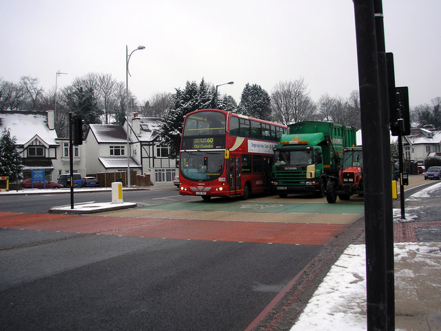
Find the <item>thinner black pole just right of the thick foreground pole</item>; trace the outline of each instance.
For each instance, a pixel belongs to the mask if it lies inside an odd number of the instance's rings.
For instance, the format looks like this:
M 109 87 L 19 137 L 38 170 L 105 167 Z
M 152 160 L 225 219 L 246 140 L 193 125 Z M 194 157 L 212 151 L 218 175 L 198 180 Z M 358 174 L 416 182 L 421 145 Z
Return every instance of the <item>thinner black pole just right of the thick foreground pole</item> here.
M 378 74 L 380 81 L 380 106 L 381 106 L 381 133 L 384 174 L 384 235 L 387 272 L 387 330 L 395 330 L 395 274 L 393 261 L 393 205 L 392 205 L 392 173 L 391 173 L 391 146 L 389 124 L 389 82 L 387 81 L 387 57 L 384 43 L 384 15 L 382 0 L 373 1 L 375 12 L 376 39 L 378 51 Z M 393 79 L 395 86 L 395 79 Z

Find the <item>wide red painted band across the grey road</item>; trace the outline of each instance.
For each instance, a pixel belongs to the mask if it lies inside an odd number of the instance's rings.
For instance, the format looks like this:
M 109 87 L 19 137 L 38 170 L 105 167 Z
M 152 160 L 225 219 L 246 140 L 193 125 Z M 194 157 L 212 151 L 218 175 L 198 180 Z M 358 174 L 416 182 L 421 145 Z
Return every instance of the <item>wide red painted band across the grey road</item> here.
M 326 245 L 347 225 L 200 221 L 0 212 L 0 228 L 113 236 Z

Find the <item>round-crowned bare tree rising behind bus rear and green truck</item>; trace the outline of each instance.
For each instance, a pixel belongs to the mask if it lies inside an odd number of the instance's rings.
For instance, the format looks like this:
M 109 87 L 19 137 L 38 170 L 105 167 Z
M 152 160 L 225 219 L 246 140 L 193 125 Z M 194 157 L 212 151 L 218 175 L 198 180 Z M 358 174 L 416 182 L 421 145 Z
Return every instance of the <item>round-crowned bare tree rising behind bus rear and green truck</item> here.
M 271 93 L 271 114 L 274 121 L 285 125 L 314 117 L 316 106 L 300 77 L 296 81 L 281 81 Z

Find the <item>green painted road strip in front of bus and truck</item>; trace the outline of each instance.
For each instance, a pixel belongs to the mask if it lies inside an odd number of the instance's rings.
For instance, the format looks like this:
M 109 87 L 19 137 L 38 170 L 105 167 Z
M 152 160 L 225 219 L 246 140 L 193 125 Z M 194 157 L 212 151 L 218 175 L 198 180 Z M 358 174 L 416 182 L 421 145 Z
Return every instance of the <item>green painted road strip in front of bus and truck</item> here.
M 194 212 L 278 212 L 297 214 L 363 214 L 365 205 L 362 203 L 271 203 L 229 201 L 191 201 L 170 203 L 167 205 L 150 205 L 141 207 L 148 210 L 188 210 Z

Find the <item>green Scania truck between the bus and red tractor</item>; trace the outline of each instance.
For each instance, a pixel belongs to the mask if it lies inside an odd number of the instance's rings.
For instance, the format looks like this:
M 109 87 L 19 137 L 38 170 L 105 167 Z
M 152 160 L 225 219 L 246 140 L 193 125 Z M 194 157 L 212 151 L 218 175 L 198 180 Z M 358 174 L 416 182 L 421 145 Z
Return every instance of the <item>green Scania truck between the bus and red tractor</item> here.
M 303 121 L 289 125 L 274 148 L 272 182 L 280 197 L 316 192 L 325 196 L 329 177 L 338 177 L 343 148 L 356 146 L 356 129 L 342 124 Z

